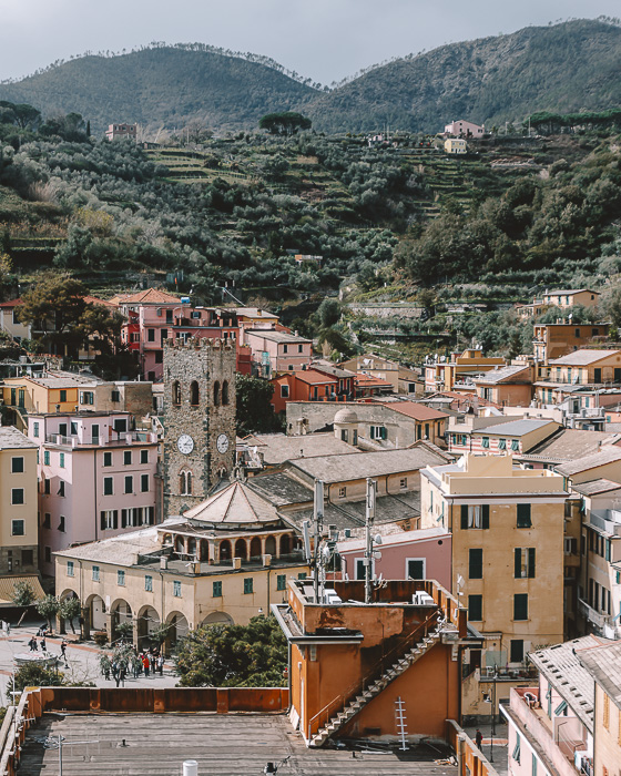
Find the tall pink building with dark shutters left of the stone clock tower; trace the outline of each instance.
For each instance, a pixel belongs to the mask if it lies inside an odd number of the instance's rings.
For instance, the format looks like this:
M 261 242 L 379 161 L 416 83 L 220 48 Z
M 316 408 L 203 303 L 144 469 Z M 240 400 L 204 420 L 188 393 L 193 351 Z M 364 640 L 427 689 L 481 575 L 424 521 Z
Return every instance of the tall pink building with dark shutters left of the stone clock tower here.
M 28 416 L 39 445 L 41 571 L 52 553 L 161 521 L 157 438 L 132 431 L 129 412 Z

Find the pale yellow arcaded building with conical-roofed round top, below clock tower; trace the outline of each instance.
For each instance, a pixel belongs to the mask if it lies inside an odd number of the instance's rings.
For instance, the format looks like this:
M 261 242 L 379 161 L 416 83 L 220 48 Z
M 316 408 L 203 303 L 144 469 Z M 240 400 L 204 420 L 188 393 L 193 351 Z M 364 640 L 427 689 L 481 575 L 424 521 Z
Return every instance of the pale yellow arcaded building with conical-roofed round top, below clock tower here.
M 200 625 L 267 613 L 308 570 L 297 532 L 241 482 L 182 518 L 57 552 L 55 562 L 57 592 L 80 599 L 86 633 L 114 640 L 129 622 L 142 647 L 165 624 L 167 650 Z

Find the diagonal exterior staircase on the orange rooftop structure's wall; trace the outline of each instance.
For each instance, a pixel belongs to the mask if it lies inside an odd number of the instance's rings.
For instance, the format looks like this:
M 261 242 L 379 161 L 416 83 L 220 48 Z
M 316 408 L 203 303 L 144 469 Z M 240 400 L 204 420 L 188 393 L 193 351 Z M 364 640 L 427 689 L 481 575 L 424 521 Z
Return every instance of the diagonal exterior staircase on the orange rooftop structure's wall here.
M 365 683 L 363 683 L 358 687 L 358 693 L 355 697 L 346 703 L 342 711 L 329 718 L 325 727 L 320 727 L 315 735 L 309 737 L 308 746 L 323 746 L 330 736 L 355 717 L 369 701 L 379 695 L 390 682 L 394 682 L 397 676 L 400 676 L 419 661 L 423 655 L 429 652 L 440 641 L 441 630 L 441 624 L 436 625 L 435 630 L 428 632 L 421 641 L 416 642 L 414 646 L 406 647 L 406 651 L 388 668 L 384 670 L 379 675 L 376 674 L 376 678 L 370 680 L 369 684 L 365 686 Z

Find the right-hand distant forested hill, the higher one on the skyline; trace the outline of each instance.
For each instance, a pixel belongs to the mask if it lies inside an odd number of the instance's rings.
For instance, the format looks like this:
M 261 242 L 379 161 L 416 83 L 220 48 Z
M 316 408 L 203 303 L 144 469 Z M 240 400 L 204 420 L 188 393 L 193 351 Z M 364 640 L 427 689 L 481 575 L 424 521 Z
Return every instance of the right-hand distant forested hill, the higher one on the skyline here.
M 326 131 L 438 131 L 452 119 L 488 126 L 540 110 L 621 105 L 621 28 L 577 20 L 451 43 L 376 68 L 318 96 L 309 115 Z

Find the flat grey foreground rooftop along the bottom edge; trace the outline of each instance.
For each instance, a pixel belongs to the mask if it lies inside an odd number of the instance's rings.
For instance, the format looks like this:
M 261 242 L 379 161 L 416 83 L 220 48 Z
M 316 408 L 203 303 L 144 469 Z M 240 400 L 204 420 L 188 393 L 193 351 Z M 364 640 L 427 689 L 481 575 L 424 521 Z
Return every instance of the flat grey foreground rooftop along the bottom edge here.
M 262 774 L 268 762 L 285 757 L 282 776 L 457 776 L 456 766 L 441 764 L 449 755 L 441 745 L 399 752 L 369 744 L 354 757 L 349 747 L 307 749 L 284 714 L 248 713 L 44 714 L 26 736 L 20 776 L 58 773 L 58 749 L 43 742 L 59 735 L 64 776 L 171 776 L 186 759 L 197 760 L 201 776 L 240 776 Z

